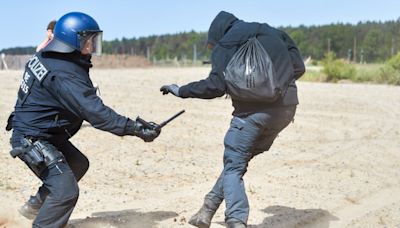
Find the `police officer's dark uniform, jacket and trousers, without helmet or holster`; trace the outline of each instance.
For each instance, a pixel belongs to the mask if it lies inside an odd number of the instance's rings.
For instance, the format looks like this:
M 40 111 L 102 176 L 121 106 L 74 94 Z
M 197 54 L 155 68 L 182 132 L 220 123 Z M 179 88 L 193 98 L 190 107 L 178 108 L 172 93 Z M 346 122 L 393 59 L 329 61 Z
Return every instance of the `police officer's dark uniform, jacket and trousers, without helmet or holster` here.
M 42 180 L 38 194 L 44 200 L 33 227 L 64 227 L 79 195 L 77 181 L 89 161 L 68 141 L 88 121 L 95 128 L 115 135 L 135 135 L 137 123 L 105 106 L 89 78 L 90 58 L 69 54 L 36 53 L 26 64 L 12 122 L 11 144 L 23 139 L 40 140 L 54 153 L 47 167 L 27 163 Z M 154 138 L 153 138 L 154 139 Z M 48 196 L 46 198 L 46 196 Z

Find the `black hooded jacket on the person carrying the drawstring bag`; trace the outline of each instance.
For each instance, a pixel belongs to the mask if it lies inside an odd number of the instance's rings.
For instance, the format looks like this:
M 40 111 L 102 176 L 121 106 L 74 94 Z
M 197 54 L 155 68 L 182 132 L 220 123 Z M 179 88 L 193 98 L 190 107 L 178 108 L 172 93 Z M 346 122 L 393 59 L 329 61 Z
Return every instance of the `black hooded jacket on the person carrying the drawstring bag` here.
M 233 115 L 247 116 L 264 112 L 271 107 L 297 105 L 299 102 L 295 80 L 304 74 L 305 67 L 293 40 L 285 32 L 268 24 L 244 22 L 224 11 L 216 16 L 208 31 L 208 43 L 214 45 L 211 55 L 212 69 L 208 78 L 181 86 L 179 96 L 202 99 L 223 96 L 226 93 L 223 71 L 239 47 L 256 35 L 271 57 L 277 74 L 292 74 L 293 81 L 284 96 L 274 103 L 232 100 Z

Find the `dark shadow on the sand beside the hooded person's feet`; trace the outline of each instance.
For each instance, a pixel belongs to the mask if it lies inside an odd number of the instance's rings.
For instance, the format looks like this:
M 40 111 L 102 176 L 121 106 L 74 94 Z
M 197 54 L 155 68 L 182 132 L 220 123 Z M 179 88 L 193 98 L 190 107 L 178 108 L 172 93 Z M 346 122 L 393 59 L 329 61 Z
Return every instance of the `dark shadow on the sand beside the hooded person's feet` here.
M 322 209 L 296 209 L 285 206 L 270 206 L 262 210 L 272 214 L 259 225 L 249 228 L 328 228 L 330 221 L 338 220 Z

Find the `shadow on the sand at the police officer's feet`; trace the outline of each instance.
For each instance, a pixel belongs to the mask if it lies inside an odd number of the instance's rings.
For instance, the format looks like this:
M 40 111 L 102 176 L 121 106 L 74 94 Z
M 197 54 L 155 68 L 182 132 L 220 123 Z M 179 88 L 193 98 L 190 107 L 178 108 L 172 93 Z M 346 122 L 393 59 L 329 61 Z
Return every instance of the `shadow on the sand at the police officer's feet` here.
M 67 228 L 144 228 L 155 227 L 157 222 L 178 216 L 171 211 L 138 212 L 137 210 L 97 212 L 85 219 L 70 220 Z

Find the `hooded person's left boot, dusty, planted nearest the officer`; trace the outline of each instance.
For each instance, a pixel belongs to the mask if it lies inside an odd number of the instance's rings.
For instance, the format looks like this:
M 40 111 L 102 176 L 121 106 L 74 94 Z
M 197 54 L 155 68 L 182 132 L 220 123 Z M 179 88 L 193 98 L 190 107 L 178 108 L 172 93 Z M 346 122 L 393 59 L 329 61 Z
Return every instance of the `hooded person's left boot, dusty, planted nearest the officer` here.
M 218 206 L 210 199 L 204 199 L 203 206 L 190 218 L 189 224 L 199 228 L 209 228 L 211 219 L 217 211 Z

